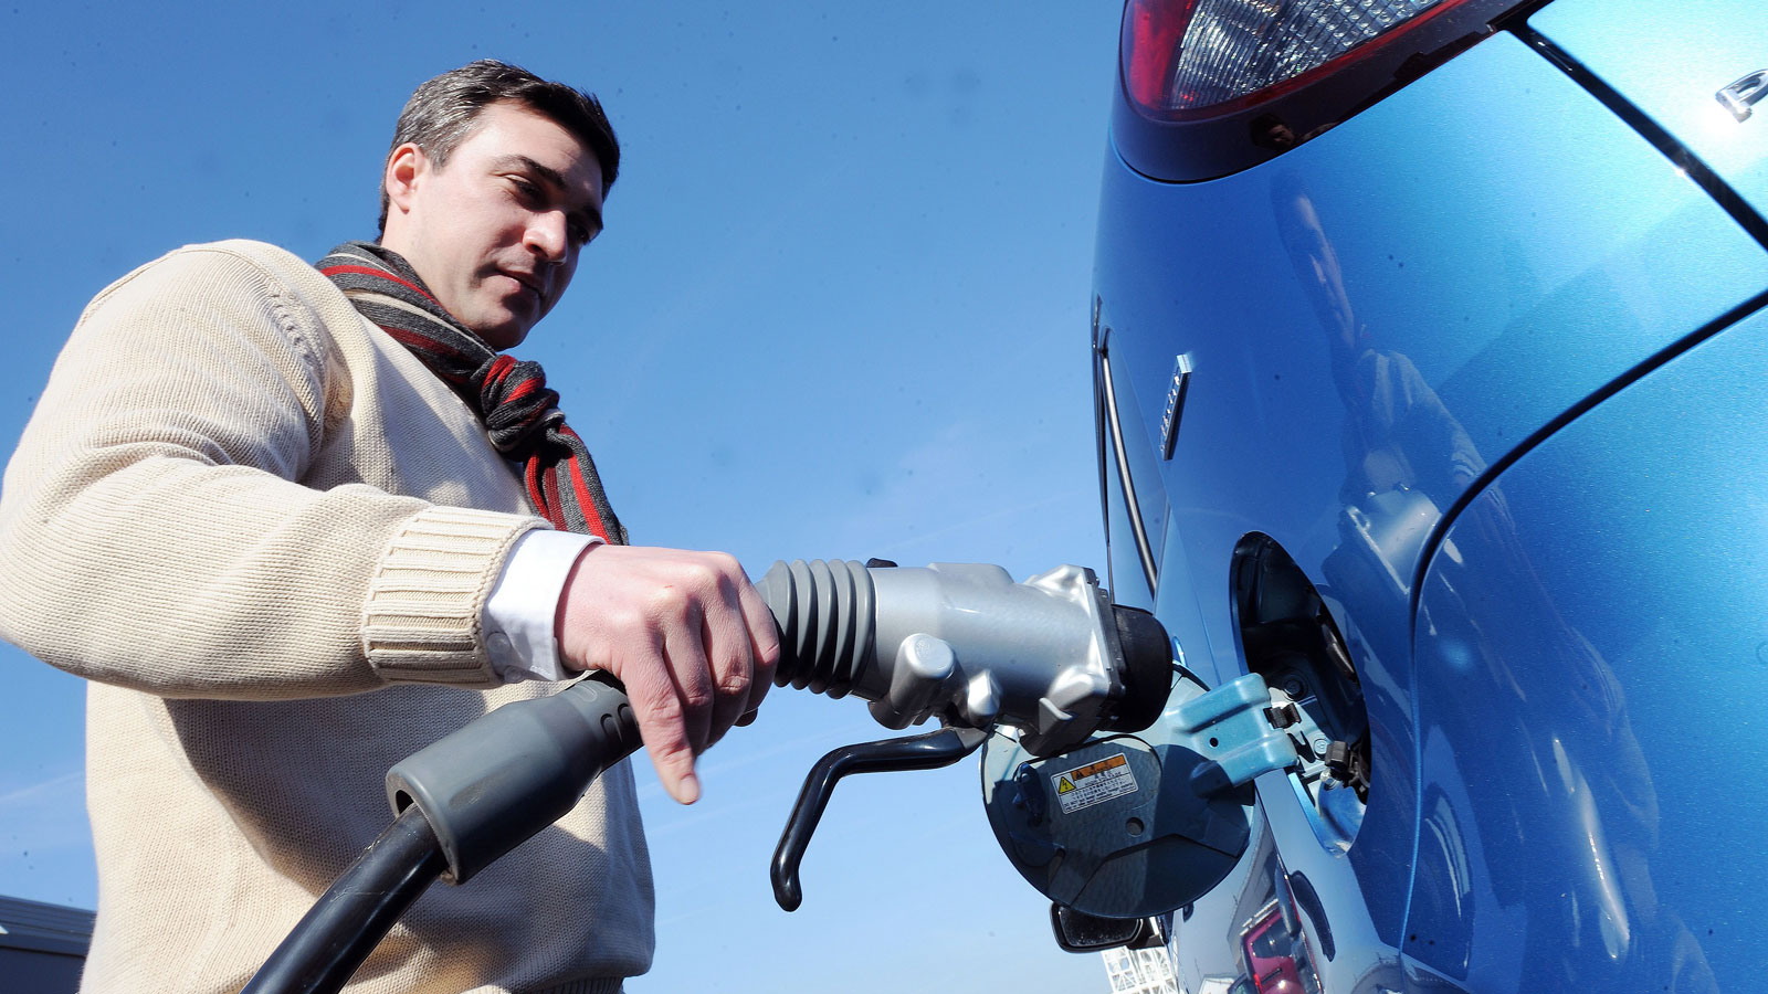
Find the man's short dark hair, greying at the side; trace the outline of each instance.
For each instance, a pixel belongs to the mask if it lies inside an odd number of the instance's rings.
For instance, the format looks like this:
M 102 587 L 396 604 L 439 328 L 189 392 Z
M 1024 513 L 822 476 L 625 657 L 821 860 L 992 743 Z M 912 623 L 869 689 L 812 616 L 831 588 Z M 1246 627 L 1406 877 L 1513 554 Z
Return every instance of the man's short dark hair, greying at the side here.
M 525 104 L 569 131 L 601 164 L 601 193 L 606 195 L 613 186 L 613 177 L 621 172 L 621 143 L 608 115 L 601 111 L 601 101 L 594 94 L 541 80 L 520 65 L 495 58 L 449 69 L 417 87 L 400 111 L 387 157 L 392 157 L 392 149 L 410 141 L 440 168 L 454 147 L 472 134 L 479 111 L 495 103 Z M 387 207 L 382 163 L 380 233 L 387 233 Z

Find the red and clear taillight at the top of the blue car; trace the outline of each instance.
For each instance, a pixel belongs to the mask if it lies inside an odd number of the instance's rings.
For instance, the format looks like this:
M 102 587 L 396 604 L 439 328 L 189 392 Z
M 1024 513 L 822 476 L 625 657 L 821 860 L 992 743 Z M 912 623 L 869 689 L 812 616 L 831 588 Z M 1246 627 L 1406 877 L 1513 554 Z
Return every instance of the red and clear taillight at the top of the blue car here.
M 1183 120 L 1310 80 L 1466 0 L 1130 0 L 1123 81 L 1137 108 Z M 1379 42 L 1377 42 L 1379 46 Z

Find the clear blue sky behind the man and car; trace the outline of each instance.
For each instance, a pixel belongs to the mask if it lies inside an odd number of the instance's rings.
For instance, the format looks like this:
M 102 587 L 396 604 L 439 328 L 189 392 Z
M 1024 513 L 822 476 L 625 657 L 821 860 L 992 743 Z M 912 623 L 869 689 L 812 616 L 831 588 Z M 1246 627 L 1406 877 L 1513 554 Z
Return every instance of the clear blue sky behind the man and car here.
M 0 4 L 0 446 L 134 265 L 221 237 L 306 258 L 373 237 L 412 87 L 497 57 L 596 90 L 624 145 L 606 233 L 520 356 L 635 541 L 725 548 L 751 575 L 870 555 L 1103 571 L 1087 318 L 1117 16 Z M 90 907 L 81 684 L 11 647 L 0 677 L 0 893 Z M 810 764 L 888 734 L 856 700 L 774 690 L 702 759 L 700 803 L 640 764 L 658 953 L 629 990 L 1105 990 L 995 845 L 974 761 L 843 784 L 803 909 L 773 904 Z

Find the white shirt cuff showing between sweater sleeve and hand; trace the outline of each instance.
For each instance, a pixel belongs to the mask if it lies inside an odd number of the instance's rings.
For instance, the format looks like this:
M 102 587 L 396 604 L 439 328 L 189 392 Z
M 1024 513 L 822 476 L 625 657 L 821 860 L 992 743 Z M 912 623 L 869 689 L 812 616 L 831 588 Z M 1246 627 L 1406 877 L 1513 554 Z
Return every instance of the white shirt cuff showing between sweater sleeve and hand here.
M 504 683 L 566 679 L 553 624 L 564 580 L 576 557 L 601 539 L 591 534 L 536 529 L 509 547 L 504 573 L 492 587 L 481 617 L 492 672 Z

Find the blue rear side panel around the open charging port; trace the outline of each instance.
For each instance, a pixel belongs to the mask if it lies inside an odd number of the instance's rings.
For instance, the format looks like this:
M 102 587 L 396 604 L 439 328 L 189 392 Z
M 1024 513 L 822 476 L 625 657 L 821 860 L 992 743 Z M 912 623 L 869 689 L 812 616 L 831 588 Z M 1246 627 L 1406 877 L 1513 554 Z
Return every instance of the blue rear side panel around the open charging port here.
M 1259 778 L 1275 865 L 1248 863 L 1179 916 L 1181 946 L 1225 946 L 1181 953 L 1181 976 L 1232 973 L 1243 923 L 1223 927 L 1227 909 L 1259 904 L 1269 874 L 1299 874 L 1324 918 L 1303 927 L 1333 937 L 1335 955 L 1315 957 L 1324 990 L 1398 989 L 1429 780 L 1413 587 L 1439 518 L 1734 317 L 1768 288 L 1768 253 L 1508 34 L 1243 173 L 1162 184 L 1110 156 L 1100 216 L 1098 334 L 1119 414 L 1133 412 L 1140 511 L 1162 524 L 1156 614 L 1208 683 L 1245 672 L 1231 568 L 1241 538 L 1271 536 L 1335 605 L 1374 736 L 1349 853 L 1315 840 L 1285 775 Z M 1193 375 L 1160 460 L 1181 352 Z M 1130 591 L 1140 557 L 1121 501 L 1109 483 L 1112 584 Z M 1423 524 L 1377 541 L 1384 518 Z

